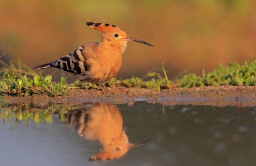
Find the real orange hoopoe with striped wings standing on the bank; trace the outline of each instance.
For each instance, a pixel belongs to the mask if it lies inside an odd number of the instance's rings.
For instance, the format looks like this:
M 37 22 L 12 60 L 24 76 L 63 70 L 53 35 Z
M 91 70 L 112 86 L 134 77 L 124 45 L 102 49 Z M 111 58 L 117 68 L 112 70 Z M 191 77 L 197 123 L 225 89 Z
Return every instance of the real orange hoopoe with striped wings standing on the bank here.
M 83 44 L 74 52 L 33 69 L 55 67 L 75 74 L 86 90 L 88 89 L 85 82 L 94 83 L 103 90 L 99 83 L 104 83 L 118 74 L 122 65 L 121 55 L 127 47 L 127 41 L 140 42 L 154 47 L 140 39 L 128 37 L 115 25 L 92 22 L 86 22 L 86 25 L 102 33 L 100 42 Z

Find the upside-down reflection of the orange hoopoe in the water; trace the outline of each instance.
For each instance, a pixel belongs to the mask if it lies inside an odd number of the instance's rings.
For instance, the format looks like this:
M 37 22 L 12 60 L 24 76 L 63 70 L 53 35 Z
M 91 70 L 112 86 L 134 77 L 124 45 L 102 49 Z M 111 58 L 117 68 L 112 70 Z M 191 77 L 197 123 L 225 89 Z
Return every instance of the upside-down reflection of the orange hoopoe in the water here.
M 60 114 L 56 115 L 60 119 Z M 128 136 L 122 129 L 122 115 L 115 105 L 86 105 L 84 108 L 70 110 L 64 116 L 69 127 L 74 128 L 80 136 L 101 142 L 103 150 L 88 161 L 119 158 L 130 148 L 152 141 L 150 139 L 141 143 L 129 143 Z

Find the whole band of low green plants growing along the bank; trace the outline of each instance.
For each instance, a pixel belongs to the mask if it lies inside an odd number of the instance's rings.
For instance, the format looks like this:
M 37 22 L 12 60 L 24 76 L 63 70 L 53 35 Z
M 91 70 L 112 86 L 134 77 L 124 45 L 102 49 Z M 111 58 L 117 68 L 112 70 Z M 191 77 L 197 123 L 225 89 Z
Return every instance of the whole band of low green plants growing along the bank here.
M 21 60 L 17 62 L 11 60 L 9 64 L 0 60 L 0 63 L 4 65 L 4 68 L 0 70 L 0 92 L 7 95 L 31 96 L 35 94 L 47 94 L 49 96 L 59 96 L 67 93 L 67 89 L 81 87 L 79 80 L 76 80 L 72 84 L 66 84 L 67 77 L 64 76 L 60 77 L 60 82 L 52 82 L 51 75 L 42 77 L 29 67 L 23 65 Z M 159 70 L 163 71 L 164 77 L 158 72 Z M 209 73 L 206 73 L 203 69 L 201 77 L 193 73 L 187 74 L 188 71 L 190 70 L 185 70 L 182 74 L 169 80 L 163 62 L 162 69 L 150 70 L 141 78 L 132 76 L 127 79 L 116 79 L 114 77 L 101 84 L 101 86 L 140 87 L 161 91 L 161 88 L 171 89 L 171 85 L 182 89 L 209 85 L 256 85 L 256 60 L 252 62 L 246 61 L 244 64 L 230 62 L 229 66 L 219 64 L 215 70 Z M 95 84 L 85 84 L 88 87 L 97 88 Z M 2 98 L 0 99 L 3 101 Z

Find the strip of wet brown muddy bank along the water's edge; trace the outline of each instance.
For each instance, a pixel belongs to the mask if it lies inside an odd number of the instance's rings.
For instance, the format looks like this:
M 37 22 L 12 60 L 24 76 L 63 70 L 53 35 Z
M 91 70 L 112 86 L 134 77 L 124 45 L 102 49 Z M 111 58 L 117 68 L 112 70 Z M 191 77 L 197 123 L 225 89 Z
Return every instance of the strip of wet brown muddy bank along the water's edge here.
M 108 94 L 101 90 L 67 89 L 65 96 L 50 97 L 37 95 L 30 97 L 2 96 L 8 103 L 83 103 L 108 102 L 132 105 L 135 101 L 147 101 L 164 105 L 192 104 L 209 106 L 255 106 L 256 86 L 207 86 L 188 89 L 157 90 L 142 88 L 108 88 Z

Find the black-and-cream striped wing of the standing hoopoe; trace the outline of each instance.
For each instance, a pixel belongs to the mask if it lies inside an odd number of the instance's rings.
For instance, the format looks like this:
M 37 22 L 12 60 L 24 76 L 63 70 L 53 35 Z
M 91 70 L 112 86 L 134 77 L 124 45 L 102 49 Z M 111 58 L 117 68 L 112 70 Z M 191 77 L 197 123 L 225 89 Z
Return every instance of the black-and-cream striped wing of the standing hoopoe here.
M 79 75 L 86 75 L 89 71 L 90 66 L 87 65 L 85 56 L 82 53 L 83 46 L 80 46 L 74 52 L 62 56 L 60 59 L 51 62 L 50 65 Z

